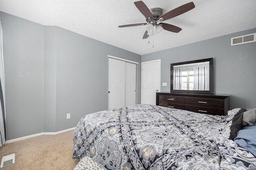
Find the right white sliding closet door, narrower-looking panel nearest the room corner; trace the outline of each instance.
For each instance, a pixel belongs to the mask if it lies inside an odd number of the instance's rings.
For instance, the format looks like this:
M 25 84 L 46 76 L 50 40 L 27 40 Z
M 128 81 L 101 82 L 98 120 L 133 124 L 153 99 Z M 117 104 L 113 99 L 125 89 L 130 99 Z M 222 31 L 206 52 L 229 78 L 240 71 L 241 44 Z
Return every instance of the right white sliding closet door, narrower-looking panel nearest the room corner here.
M 125 62 L 125 106 L 136 104 L 136 64 Z

